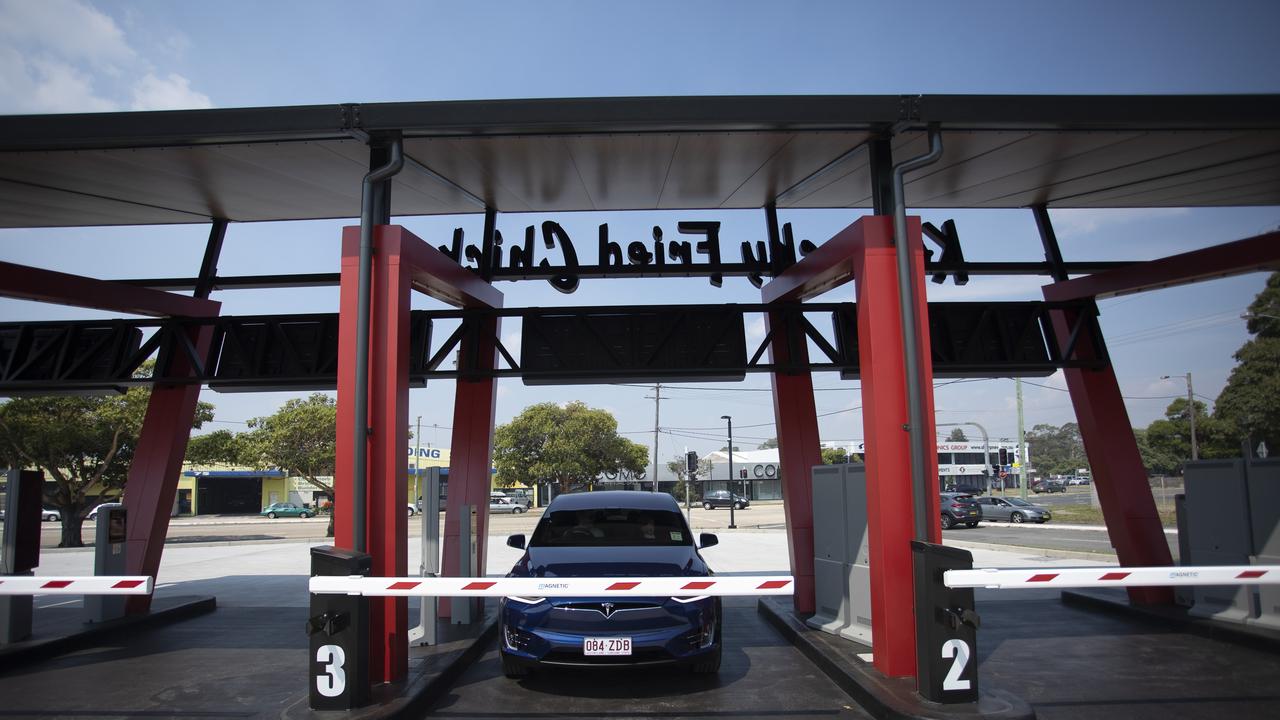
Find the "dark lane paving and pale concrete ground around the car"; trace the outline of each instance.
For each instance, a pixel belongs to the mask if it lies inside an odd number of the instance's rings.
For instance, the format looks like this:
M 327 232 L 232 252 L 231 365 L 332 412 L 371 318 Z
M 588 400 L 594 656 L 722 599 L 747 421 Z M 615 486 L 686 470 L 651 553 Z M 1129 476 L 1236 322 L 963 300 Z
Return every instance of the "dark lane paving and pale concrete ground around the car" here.
M 751 511 L 754 511 L 753 509 Z M 751 512 L 748 511 L 748 512 Z M 716 511 L 722 512 L 722 511 Z M 785 573 L 781 530 L 723 530 L 705 557 L 718 573 Z M 723 514 L 727 516 L 727 512 Z M 763 514 L 762 514 L 763 515 Z M 522 516 L 529 521 L 532 518 Z M 283 520 L 282 520 L 283 521 Z M 489 541 L 489 574 L 520 551 Z M 495 528 L 497 529 L 497 528 Z M 527 530 L 526 530 L 527 532 Z M 306 578 L 314 541 L 177 543 L 157 598 L 214 594 L 218 610 L 97 642 L 0 674 L 0 717 L 307 716 Z M 410 565 L 417 566 L 417 542 Z M 975 566 L 1080 566 L 1038 551 L 973 551 Z M 40 575 L 91 571 L 90 550 L 45 552 Z M 79 600 L 37 597 L 36 612 L 74 615 Z M 978 591 L 979 678 L 1041 717 L 1276 717 L 1280 656 L 1064 605 L 1053 591 Z M 411 611 L 411 618 L 416 612 Z M 863 716 L 850 697 L 759 620 L 728 603 L 726 669 L 694 680 L 671 670 L 553 673 L 511 682 L 493 646 L 435 705 L 454 717 Z

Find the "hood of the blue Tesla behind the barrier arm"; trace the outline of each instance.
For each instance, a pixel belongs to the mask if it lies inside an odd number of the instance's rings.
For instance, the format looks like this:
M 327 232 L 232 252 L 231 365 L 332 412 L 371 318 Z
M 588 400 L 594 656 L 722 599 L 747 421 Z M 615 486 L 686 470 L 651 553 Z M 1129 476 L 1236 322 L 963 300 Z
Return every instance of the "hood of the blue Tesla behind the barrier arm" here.
M 663 578 L 707 575 L 691 546 L 530 547 L 511 570 L 515 578 Z

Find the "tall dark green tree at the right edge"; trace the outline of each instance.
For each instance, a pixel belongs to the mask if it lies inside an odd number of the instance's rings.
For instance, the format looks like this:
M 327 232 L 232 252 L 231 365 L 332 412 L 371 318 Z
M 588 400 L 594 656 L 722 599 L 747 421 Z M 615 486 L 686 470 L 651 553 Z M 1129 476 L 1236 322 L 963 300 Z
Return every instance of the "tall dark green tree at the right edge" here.
M 1248 318 L 1245 327 L 1254 337 L 1235 351 L 1236 365 L 1213 404 L 1213 418 L 1233 455 L 1242 439 L 1280 447 L 1280 273 L 1267 277 L 1249 304 Z

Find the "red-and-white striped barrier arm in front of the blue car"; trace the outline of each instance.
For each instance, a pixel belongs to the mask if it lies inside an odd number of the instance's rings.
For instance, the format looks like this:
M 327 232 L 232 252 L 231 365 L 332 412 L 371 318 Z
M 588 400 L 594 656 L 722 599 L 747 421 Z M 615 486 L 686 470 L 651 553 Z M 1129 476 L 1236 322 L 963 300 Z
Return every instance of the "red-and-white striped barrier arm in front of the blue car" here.
M 791 575 L 710 578 L 365 578 L 317 575 L 310 589 L 378 597 L 696 597 L 791 594 Z

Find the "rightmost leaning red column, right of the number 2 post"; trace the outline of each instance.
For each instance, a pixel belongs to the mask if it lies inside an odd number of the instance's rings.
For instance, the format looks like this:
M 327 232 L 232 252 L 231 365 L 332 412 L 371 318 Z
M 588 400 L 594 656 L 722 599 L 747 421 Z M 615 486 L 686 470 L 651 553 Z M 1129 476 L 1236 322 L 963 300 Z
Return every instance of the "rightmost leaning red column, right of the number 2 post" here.
M 1062 346 L 1070 337 L 1074 314 L 1066 310 L 1050 311 L 1053 333 Z M 1103 351 L 1093 347 L 1087 333 L 1082 333 L 1078 342 L 1085 356 Z M 1172 565 L 1165 528 L 1147 484 L 1147 470 L 1133 437 L 1133 425 L 1129 424 L 1129 413 L 1120 396 L 1115 369 L 1108 364 L 1102 370 L 1069 368 L 1062 373 L 1071 393 L 1084 452 L 1093 469 L 1093 487 L 1102 505 L 1107 534 L 1116 548 L 1116 559 L 1120 565 L 1128 566 Z M 1170 605 L 1174 594 L 1170 588 L 1129 588 L 1129 601 L 1135 605 Z

